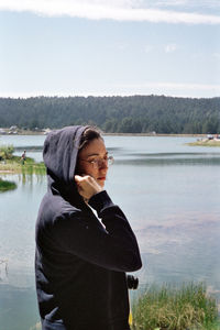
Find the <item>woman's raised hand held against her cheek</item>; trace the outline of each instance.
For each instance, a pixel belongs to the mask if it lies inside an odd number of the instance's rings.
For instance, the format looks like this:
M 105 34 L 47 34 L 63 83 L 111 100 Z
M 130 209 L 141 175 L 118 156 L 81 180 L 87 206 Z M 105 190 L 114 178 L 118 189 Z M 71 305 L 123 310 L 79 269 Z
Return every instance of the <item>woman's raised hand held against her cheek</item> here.
M 81 195 L 81 197 L 86 200 L 89 200 L 94 195 L 102 191 L 101 186 L 99 186 L 99 184 L 90 175 L 75 175 L 75 182 L 79 195 Z

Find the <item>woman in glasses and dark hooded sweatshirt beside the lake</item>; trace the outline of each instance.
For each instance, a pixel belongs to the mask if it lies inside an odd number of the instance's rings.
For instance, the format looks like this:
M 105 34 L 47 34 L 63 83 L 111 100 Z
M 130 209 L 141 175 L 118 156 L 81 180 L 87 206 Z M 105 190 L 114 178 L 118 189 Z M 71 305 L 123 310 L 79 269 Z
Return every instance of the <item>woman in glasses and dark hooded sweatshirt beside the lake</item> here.
M 92 127 L 52 131 L 48 189 L 36 220 L 35 278 L 42 330 L 129 330 L 125 272 L 141 256 L 122 210 L 103 189 L 109 156 Z

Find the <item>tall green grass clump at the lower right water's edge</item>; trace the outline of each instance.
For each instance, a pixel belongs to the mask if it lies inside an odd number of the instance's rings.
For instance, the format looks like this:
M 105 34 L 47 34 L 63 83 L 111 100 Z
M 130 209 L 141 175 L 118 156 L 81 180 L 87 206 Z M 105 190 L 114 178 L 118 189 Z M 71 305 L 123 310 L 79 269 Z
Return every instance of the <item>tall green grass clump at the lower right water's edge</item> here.
M 151 287 L 133 305 L 132 330 L 219 330 L 217 300 L 204 284 Z

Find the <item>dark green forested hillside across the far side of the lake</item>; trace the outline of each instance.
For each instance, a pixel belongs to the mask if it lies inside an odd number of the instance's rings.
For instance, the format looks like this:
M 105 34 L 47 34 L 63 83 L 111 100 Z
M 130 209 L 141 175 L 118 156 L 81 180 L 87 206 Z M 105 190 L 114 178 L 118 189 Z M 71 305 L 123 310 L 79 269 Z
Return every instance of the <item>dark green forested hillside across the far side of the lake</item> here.
M 95 124 L 107 133 L 216 134 L 220 133 L 220 97 L 0 98 L 0 128 L 75 124 Z

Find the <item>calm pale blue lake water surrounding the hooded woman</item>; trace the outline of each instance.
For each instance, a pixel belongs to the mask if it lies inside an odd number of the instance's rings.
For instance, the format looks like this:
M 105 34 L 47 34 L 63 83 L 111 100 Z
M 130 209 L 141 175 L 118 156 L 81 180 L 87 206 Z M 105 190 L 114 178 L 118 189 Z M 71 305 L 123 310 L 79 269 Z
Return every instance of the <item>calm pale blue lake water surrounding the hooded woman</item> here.
M 45 136 L 1 136 L 16 154 L 42 161 Z M 106 188 L 138 237 L 140 287 L 202 280 L 220 299 L 220 148 L 195 138 L 106 136 L 114 165 Z M 34 226 L 45 176 L 1 175 L 18 189 L 0 195 L 0 330 L 35 330 Z

